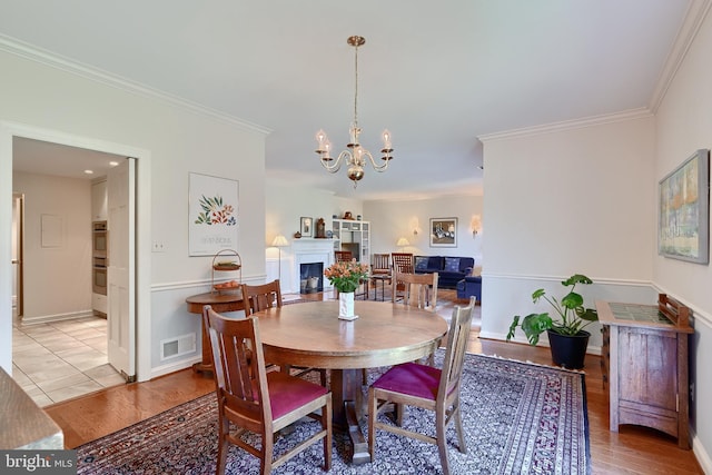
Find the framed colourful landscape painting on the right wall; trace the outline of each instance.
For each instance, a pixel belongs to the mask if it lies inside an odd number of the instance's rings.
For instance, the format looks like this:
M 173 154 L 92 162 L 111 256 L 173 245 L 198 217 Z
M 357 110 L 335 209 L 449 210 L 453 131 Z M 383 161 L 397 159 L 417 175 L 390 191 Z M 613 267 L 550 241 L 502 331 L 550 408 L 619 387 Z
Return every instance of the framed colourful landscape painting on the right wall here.
M 695 151 L 660 180 L 657 254 L 710 261 L 710 150 Z

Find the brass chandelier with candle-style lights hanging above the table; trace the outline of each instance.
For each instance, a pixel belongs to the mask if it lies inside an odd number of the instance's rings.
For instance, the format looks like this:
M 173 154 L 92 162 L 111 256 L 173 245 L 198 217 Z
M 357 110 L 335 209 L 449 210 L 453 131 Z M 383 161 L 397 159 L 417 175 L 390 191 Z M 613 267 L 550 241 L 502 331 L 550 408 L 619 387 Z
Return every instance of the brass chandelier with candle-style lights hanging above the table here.
M 360 135 L 360 128 L 358 127 L 358 47 L 364 46 L 366 39 L 363 37 L 349 37 L 346 42 L 354 47 L 354 121 L 349 128 L 350 142 L 346 145 L 347 149 L 343 150 L 338 157 L 332 157 L 332 142 L 329 141 L 326 132 L 322 129 L 316 132 L 316 141 L 318 144 L 316 152 L 319 155 L 319 160 L 324 168 L 330 174 L 337 172 L 342 168 L 342 164 L 346 162 L 348 169 L 348 179 L 354 181 L 354 188 L 358 185 L 358 180 L 364 178 L 364 166 L 366 160 L 370 161 L 374 170 L 378 172 L 386 171 L 388 162 L 393 158 L 390 152 L 393 151 L 390 145 L 390 132 L 385 129 L 380 135 L 383 140 L 383 164 L 377 165 L 374 156 L 370 151 L 363 148 L 358 141 Z

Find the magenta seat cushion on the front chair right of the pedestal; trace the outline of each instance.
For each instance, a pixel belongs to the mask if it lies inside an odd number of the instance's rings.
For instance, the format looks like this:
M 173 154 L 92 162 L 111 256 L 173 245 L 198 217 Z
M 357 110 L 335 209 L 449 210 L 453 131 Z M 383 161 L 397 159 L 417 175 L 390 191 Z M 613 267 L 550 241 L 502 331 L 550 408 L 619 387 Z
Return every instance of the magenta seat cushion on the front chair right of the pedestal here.
M 442 372 L 432 366 L 406 363 L 388 369 L 373 386 L 394 393 L 435 400 Z

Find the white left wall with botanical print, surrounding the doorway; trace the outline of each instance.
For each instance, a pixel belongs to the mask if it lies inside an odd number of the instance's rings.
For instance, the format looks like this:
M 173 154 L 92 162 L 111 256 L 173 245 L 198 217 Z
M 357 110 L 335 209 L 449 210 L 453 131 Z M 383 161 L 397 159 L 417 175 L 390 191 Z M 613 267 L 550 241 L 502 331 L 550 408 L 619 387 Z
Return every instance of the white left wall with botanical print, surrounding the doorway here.
M 186 311 L 185 297 L 207 291 L 210 283 L 211 258 L 188 256 L 188 174 L 239 181 L 237 250 L 243 257 L 243 276 L 264 279 L 266 130 L 108 78 L 89 79 L 90 71 L 70 72 L 70 65 L 62 69 L 47 66 L 50 58 L 31 60 L 26 58 L 31 52 L 20 57 L 7 52 L 4 44 L 0 49 L 0 125 L 6 123 L 0 130 L 9 130 L 8 123 L 28 125 L 71 137 L 73 142 L 116 144 L 121 150 L 145 151 L 138 160 L 139 214 L 149 217 L 138 225 L 138 251 L 146 257 L 139 271 L 147 276 L 138 281 L 139 294 L 147 295 L 138 301 L 139 378 L 199 359 L 199 344 L 197 352 L 180 360 L 158 358 L 161 339 L 196 333 L 200 342 L 200 320 Z M 0 137 L 0 227 L 10 229 L 12 148 L 4 133 Z M 151 240 L 161 240 L 165 251 L 148 254 Z M 4 232 L 0 236 L 0 281 L 11 280 L 10 257 L 10 235 Z M 10 373 L 10 286 L 1 287 L 0 366 Z

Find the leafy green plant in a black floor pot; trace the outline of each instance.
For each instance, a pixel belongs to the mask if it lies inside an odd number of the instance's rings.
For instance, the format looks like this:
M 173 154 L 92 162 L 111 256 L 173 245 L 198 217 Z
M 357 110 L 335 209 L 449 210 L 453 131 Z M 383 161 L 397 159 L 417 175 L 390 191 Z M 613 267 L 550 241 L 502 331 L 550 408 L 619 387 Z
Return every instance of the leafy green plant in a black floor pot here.
M 578 284 L 593 284 L 593 280 L 582 274 L 574 274 L 561 284 L 568 289 L 561 300 L 548 297 L 543 288 L 532 294 L 534 304 L 543 298 L 554 308 L 558 318 L 552 319 L 548 311 L 530 314 L 524 318 L 515 315 L 510 325 L 507 342 L 514 337 L 517 327 L 524 331 L 531 345 L 536 345 L 540 335 L 546 331 L 554 364 L 580 369 L 583 368 L 591 336 L 584 328 L 596 321 L 599 314 L 593 308 L 584 307 L 583 297 L 575 291 L 575 288 Z

